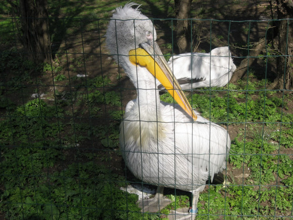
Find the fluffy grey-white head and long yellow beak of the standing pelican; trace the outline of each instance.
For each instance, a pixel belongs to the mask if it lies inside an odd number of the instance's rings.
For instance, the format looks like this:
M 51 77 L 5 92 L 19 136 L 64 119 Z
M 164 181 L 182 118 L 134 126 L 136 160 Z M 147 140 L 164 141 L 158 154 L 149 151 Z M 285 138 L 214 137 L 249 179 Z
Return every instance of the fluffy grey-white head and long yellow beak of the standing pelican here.
M 109 51 L 122 65 L 136 88 L 139 88 L 140 82 L 146 81 L 146 76 L 142 75 L 142 73 L 146 74 L 144 71 L 146 68 L 160 81 L 182 109 L 196 120 L 197 116 L 156 43 L 153 23 L 141 13 L 138 4 L 131 2 L 116 9 L 109 22 L 106 43 Z

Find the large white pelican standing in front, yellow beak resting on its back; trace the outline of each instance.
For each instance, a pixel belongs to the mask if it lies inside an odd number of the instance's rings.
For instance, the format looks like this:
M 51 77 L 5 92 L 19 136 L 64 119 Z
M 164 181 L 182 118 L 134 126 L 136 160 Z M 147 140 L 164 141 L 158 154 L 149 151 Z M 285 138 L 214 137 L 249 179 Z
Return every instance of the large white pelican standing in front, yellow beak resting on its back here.
M 137 178 L 158 186 L 156 196 L 144 206 L 162 208 L 163 187 L 190 191 L 192 206 L 183 217 L 194 219 L 206 180 L 225 168 L 230 137 L 191 109 L 155 41 L 151 20 L 134 5 L 116 8 L 105 35 L 109 51 L 138 95 L 127 104 L 120 125 L 121 153 Z M 156 79 L 180 106 L 160 101 Z

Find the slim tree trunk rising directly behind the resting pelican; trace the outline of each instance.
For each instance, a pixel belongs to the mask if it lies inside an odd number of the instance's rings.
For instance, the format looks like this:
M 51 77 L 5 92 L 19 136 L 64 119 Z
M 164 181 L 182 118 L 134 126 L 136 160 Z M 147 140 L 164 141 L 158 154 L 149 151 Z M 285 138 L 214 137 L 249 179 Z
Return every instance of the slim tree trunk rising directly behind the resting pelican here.
M 176 41 L 179 53 L 191 52 L 189 17 L 192 0 L 175 0 L 175 13 L 177 16 Z

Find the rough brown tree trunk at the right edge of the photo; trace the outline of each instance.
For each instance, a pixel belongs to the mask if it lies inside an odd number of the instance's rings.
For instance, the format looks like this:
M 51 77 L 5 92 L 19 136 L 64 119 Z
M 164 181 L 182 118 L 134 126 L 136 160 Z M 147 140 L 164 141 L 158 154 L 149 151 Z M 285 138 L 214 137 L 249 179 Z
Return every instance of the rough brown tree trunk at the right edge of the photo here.
M 277 57 L 277 78 L 269 88 L 290 90 L 293 88 L 293 21 L 287 18 L 293 17 L 293 1 L 277 0 L 277 12 L 278 19 L 282 19 L 278 25 L 281 56 Z

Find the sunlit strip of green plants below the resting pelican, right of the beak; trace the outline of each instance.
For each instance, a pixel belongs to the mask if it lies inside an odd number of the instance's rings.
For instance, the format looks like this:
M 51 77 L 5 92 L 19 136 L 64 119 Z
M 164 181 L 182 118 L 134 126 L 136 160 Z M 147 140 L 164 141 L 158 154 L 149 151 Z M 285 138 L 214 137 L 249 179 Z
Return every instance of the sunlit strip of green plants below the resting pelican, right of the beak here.
M 219 94 L 215 90 L 203 90 L 189 96 L 189 100 L 192 101 L 194 109 L 213 122 L 225 121 L 228 118 L 229 122 L 264 121 L 275 123 L 282 121 L 288 123 L 292 119 L 292 114 L 281 111 L 281 107 L 286 108 L 286 102 L 282 98 L 271 97 L 265 93 L 258 93 L 258 96 L 252 98 L 250 95 L 255 94 L 256 91 L 252 89 L 244 92 L 229 91 L 229 93 Z M 168 102 L 166 98 L 168 96 L 168 94 L 165 95 L 166 102 Z M 274 114 L 271 114 L 272 112 Z

